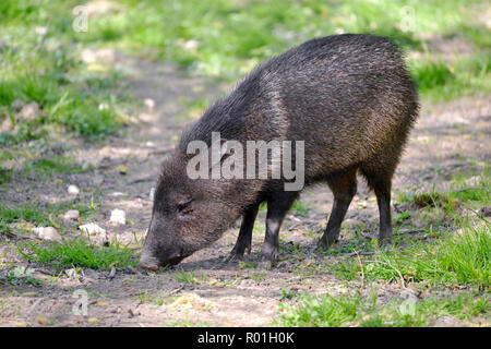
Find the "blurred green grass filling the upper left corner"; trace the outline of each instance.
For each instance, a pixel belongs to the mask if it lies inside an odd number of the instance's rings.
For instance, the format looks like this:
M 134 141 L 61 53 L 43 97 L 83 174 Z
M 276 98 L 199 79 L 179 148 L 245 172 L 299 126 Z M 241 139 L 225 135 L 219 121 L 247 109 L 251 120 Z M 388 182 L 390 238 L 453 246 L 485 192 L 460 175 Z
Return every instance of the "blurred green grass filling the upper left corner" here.
M 0 122 L 15 120 L 0 145 L 12 145 L 53 131 L 88 139 L 113 134 L 124 122 L 122 75 L 79 59 L 72 28 L 75 1 L 3 1 L 0 5 Z M 49 26 L 48 26 L 49 23 Z M 47 29 L 46 35 L 39 28 Z M 14 100 L 36 103 L 35 120 L 15 117 Z

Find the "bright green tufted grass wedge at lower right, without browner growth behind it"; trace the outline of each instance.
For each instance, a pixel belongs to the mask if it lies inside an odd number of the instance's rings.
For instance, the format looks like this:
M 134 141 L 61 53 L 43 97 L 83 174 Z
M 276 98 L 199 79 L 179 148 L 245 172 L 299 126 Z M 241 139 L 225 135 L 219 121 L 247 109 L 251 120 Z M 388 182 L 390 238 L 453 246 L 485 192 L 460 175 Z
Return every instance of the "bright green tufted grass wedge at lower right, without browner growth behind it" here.
M 466 219 L 460 230 L 429 243 L 416 242 L 406 249 L 379 250 L 362 256 L 364 277 L 371 280 L 424 282 L 454 287 L 466 285 L 486 289 L 491 280 L 491 225 Z M 340 277 L 355 279 L 361 272 L 356 257 L 332 267 Z M 400 273 L 400 275 L 399 275 Z

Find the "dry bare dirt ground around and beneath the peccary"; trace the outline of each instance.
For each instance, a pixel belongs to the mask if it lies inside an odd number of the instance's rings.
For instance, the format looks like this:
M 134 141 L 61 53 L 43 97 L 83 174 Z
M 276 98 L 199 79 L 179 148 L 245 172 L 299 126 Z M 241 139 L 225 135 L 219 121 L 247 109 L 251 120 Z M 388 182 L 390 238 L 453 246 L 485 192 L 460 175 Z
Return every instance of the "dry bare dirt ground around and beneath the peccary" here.
M 196 117 L 185 113 L 185 100 L 213 98 L 229 87 L 185 76 L 170 64 L 134 60 L 122 55 L 111 59 L 131 76 L 131 93 L 142 106 L 137 121 L 121 136 L 98 145 L 71 141 L 70 153 L 94 166 L 89 172 L 63 174 L 47 181 L 14 177 L 0 192 L 0 201 L 12 204 L 34 200 L 69 201 L 73 197 L 67 194 L 67 185 L 76 184 L 81 189 L 81 201 L 87 202 L 94 193 L 101 197 L 99 210 L 84 222 L 97 222 L 108 230 L 110 239 L 117 237 L 123 242 L 134 242 L 135 238 L 143 239 L 151 218 L 149 192 L 155 186 L 159 166 L 183 125 Z M 154 100 L 155 105 L 148 101 L 145 105 L 145 99 Z M 450 174 L 455 171 L 489 164 L 490 128 L 489 96 L 423 105 L 395 176 L 394 192 L 431 189 L 433 184 L 436 189 L 445 188 Z M 118 167 L 121 165 L 127 167 L 127 174 L 120 173 Z M 115 196 L 116 192 L 122 195 Z M 283 262 L 272 270 L 223 262 L 233 246 L 237 228 L 173 269 L 158 273 L 117 269 L 116 275 L 110 275 L 107 270 L 82 268 L 77 276 L 62 274 L 56 282 L 49 281 L 51 272 L 48 268 L 32 265 L 19 256 L 13 248 L 15 241 L 2 243 L 0 262 L 34 267 L 34 276 L 43 279 L 44 285 L 0 285 L 0 325 L 267 326 L 277 313 L 283 289 L 336 296 L 359 288 L 359 280 L 339 280 L 332 273 L 319 273 L 313 267 L 324 258 L 313 249 L 331 210 L 328 189 L 308 190 L 301 202 L 308 207 L 308 215 L 288 215 L 280 233 L 285 245 L 295 245 L 300 253 L 283 251 Z M 113 208 L 125 210 L 131 224 L 110 225 L 108 220 Z M 264 212 L 260 213 L 249 261 L 258 258 L 264 237 Z M 361 180 L 337 249 L 354 239 L 352 226 L 359 222 L 368 227 L 367 236 L 375 237 L 376 203 Z M 74 234 L 76 229 L 68 228 L 61 233 Z M 340 258 L 356 256 L 346 253 L 327 258 L 334 264 Z M 184 274 L 189 280 L 184 280 Z M 87 291 L 86 316 L 75 315 L 72 311 L 76 301 L 73 292 L 79 289 Z M 373 289 L 380 294 L 381 302 L 402 297 L 397 280 L 373 282 L 366 286 L 363 292 Z

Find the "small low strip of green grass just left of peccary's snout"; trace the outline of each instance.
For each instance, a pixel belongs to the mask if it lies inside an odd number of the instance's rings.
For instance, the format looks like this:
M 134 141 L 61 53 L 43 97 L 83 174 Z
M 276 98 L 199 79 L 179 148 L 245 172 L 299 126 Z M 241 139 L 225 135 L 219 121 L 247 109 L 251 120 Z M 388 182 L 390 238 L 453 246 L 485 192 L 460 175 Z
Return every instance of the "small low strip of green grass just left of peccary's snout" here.
M 61 242 L 34 243 L 17 245 L 19 253 L 28 261 L 48 264 L 55 268 L 70 266 L 93 269 L 110 269 L 115 267 L 136 266 L 137 260 L 133 250 L 112 240 L 109 245 L 96 245 L 82 237 Z

